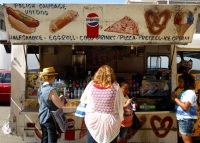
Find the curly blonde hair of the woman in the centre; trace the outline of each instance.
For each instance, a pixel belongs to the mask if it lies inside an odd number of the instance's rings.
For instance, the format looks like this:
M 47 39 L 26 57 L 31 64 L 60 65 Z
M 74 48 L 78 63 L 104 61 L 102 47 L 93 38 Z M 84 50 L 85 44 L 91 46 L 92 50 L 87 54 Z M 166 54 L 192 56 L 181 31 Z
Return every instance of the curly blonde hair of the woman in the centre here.
M 113 69 L 108 65 L 101 66 L 94 75 L 94 83 L 105 88 L 113 87 L 117 83 Z

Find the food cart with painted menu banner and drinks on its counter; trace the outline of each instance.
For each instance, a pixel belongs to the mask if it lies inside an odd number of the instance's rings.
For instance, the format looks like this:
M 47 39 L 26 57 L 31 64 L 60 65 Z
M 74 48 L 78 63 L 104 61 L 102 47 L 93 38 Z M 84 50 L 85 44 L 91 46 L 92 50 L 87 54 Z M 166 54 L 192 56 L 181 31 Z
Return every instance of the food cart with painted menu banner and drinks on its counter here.
M 171 103 L 170 91 L 176 87 L 174 50 L 176 44 L 192 42 L 199 6 L 14 3 L 4 8 L 7 41 L 12 45 L 12 134 L 26 143 L 42 137 L 39 71 L 30 72 L 26 63 L 32 49 L 39 51 L 40 70 L 56 68 L 54 86 L 68 98 L 63 110 L 69 129 L 58 142 L 86 142 L 84 118 L 74 116 L 78 91 L 83 92 L 88 71 L 94 74 L 103 64 L 110 65 L 117 78 L 126 78 L 129 96 L 137 97 L 142 128 L 131 132 L 129 142 L 178 142 L 173 108 L 161 105 Z M 162 56 L 168 57 L 168 67 L 162 67 Z

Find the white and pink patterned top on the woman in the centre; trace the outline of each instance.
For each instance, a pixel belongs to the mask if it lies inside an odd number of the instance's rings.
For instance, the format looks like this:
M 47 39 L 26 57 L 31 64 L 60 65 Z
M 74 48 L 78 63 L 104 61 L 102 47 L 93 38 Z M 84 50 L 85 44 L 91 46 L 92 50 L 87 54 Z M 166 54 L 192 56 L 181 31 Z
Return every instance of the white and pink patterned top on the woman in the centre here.
M 98 143 L 111 142 L 120 131 L 123 118 L 124 95 L 119 85 L 100 88 L 90 82 L 81 102 L 86 103 L 85 124 Z

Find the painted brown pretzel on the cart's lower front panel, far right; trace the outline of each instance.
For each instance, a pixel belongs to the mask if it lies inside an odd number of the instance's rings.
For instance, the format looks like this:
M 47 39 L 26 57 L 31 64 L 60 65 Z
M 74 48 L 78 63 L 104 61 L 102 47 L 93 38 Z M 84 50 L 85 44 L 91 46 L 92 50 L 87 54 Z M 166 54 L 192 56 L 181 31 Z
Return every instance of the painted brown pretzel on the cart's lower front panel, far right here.
M 156 127 L 154 121 L 158 121 L 160 123 L 160 127 Z M 166 127 L 166 122 L 168 122 L 167 127 Z M 164 138 L 170 132 L 170 129 L 173 125 L 173 119 L 170 116 L 166 116 L 162 119 L 161 117 L 154 115 L 150 119 L 150 124 L 151 124 L 151 127 L 153 128 L 154 134 L 159 138 Z M 165 132 L 161 134 L 159 133 L 159 130 L 158 130 L 159 128 L 161 129 L 167 128 L 167 130 L 165 130 Z

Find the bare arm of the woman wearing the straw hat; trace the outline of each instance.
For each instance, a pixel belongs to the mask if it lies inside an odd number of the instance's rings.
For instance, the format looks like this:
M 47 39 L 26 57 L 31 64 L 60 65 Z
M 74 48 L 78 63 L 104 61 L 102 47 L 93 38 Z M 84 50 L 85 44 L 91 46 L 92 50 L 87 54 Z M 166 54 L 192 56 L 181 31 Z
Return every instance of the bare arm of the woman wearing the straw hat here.
M 55 89 L 51 90 L 49 94 L 49 99 L 52 100 L 54 105 L 56 105 L 58 108 L 62 108 L 64 106 L 64 96 L 61 95 L 60 97 L 58 97 L 58 94 Z

